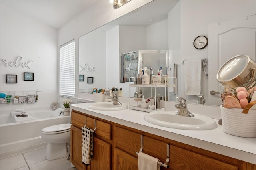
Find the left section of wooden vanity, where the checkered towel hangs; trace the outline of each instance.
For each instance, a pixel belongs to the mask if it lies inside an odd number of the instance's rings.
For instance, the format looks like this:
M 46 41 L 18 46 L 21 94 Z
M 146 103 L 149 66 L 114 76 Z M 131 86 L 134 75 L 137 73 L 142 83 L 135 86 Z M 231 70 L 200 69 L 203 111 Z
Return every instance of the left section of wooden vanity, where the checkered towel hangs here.
M 96 120 L 97 119 L 97 120 Z M 82 164 L 82 127 L 96 130 L 93 137 L 93 156 L 89 166 Z M 111 124 L 72 111 L 71 115 L 71 162 L 78 170 L 110 170 L 112 158 Z

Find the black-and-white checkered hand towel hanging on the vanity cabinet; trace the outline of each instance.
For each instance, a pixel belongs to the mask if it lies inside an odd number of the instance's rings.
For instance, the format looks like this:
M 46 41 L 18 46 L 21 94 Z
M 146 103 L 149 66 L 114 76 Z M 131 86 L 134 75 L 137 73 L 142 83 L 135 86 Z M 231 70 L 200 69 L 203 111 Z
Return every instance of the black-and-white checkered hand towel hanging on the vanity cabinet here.
M 93 142 L 92 129 L 83 127 L 82 128 L 82 163 L 90 165 L 92 157 L 92 142 Z

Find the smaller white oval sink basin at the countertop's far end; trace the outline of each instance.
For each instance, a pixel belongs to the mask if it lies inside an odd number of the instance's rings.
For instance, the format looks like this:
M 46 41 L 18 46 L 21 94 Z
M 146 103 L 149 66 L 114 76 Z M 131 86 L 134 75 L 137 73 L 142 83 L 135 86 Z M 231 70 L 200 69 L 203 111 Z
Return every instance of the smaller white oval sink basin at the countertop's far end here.
M 113 105 L 113 102 L 96 102 L 91 103 L 88 108 L 101 111 L 120 111 L 127 109 L 127 105 L 124 103 L 122 105 Z

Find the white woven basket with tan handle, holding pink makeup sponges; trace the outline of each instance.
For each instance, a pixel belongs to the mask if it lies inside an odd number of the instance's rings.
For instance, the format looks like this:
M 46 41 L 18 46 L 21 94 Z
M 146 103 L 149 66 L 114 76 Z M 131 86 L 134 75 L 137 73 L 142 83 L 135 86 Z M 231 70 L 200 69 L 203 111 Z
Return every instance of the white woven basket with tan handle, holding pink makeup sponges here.
M 247 114 L 243 109 L 228 109 L 220 106 L 223 131 L 234 136 L 256 137 L 256 110 L 250 109 Z

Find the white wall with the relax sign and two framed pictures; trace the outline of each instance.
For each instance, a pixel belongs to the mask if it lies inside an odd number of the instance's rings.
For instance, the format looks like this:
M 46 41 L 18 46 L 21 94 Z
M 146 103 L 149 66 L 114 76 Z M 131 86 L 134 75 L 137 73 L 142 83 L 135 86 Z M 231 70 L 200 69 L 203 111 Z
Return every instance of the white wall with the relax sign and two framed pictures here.
M 0 91 L 42 90 L 38 93 L 38 102 L 22 105 L 0 105 L 0 111 L 17 107 L 25 109 L 50 108 L 52 102 L 58 99 L 57 30 L 2 4 L 0 15 Z M 18 56 L 22 57 L 22 62 L 33 61 L 29 64 L 31 69 L 2 65 L 3 59 L 8 61 L 9 65 L 10 62 L 16 61 Z M 34 73 L 34 81 L 24 81 L 24 72 Z M 6 74 L 17 75 L 18 83 L 6 84 Z M 27 92 L 20 92 L 18 95 L 22 95 L 22 93 L 26 94 Z M 31 93 L 33 94 L 35 91 Z

